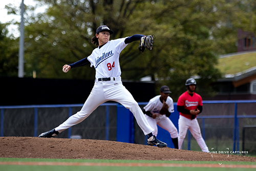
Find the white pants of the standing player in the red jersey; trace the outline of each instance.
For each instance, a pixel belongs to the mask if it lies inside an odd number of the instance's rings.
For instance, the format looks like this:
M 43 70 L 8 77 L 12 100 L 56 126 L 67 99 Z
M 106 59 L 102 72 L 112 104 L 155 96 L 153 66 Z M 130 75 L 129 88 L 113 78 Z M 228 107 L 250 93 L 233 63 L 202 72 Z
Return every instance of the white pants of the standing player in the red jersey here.
M 209 153 L 209 149 L 202 137 L 197 118 L 191 120 L 180 115 L 178 124 L 179 124 L 179 136 L 178 136 L 179 149 L 181 149 L 181 145 L 183 143 L 184 138 L 186 137 L 187 129 L 188 129 L 193 135 L 193 137 L 197 140 L 197 143 L 201 147 L 202 151 Z

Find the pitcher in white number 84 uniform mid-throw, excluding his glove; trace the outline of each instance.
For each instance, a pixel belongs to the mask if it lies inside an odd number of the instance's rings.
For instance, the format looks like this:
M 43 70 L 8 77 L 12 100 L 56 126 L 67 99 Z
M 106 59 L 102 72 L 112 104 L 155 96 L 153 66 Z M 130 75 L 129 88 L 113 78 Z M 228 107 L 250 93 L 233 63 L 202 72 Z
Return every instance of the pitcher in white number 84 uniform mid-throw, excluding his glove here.
M 147 143 L 166 147 L 167 144 L 159 141 L 153 135 L 154 129 L 148 124 L 138 103 L 134 100 L 132 94 L 125 89 L 121 81 L 121 70 L 119 65 L 119 54 L 135 40 L 140 40 L 145 35 L 135 34 L 130 37 L 109 40 L 113 31 L 103 25 L 96 30 L 92 43 L 98 46 L 92 54 L 70 65 L 64 65 L 63 72 L 68 72 L 72 68 L 90 64 L 96 70 L 95 84 L 91 94 L 84 102 L 82 109 L 76 114 L 70 116 L 65 122 L 55 127 L 55 129 L 42 133 L 38 137 L 51 138 L 57 136 L 62 131 L 76 125 L 86 119 L 100 104 L 112 100 L 121 103 L 125 108 L 130 109 L 144 135 L 147 135 Z M 125 134 L 125 133 L 124 133 Z

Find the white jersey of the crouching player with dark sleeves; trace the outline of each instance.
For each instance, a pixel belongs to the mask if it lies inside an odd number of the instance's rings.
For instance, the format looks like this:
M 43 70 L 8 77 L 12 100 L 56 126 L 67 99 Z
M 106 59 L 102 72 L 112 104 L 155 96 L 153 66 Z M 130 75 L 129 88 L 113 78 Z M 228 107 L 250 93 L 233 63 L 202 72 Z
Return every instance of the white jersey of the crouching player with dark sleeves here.
M 150 111 L 152 114 L 158 113 L 157 118 L 165 116 L 165 115 L 160 114 L 160 110 L 162 109 L 162 106 L 163 106 L 163 103 L 160 101 L 160 96 L 161 95 L 158 95 L 158 96 L 150 99 L 150 101 L 147 103 L 147 105 L 144 106 L 145 111 Z M 169 113 L 174 112 L 174 101 L 170 96 L 167 97 L 165 103 L 168 104 L 168 106 L 169 106 L 168 112 Z

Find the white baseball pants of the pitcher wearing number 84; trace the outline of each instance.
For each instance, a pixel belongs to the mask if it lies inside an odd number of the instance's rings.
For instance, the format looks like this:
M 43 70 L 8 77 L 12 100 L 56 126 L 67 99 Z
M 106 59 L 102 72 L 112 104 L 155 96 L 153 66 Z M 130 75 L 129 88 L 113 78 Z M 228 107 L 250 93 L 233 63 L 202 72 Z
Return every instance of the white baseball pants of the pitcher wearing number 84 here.
M 125 108 L 130 109 L 144 135 L 150 134 L 154 129 L 148 124 L 140 106 L 132 94 L 123 86 L 121 77 L 111 78 L 110 81 L 95 81 L 91 94 L 84 102 L 82 109 L 70 116 L 65 122 L 55 128 L 61 133 L 69 127 L 76 125 L 86 119 L 100 104 L 106 101 L 116 101 Z

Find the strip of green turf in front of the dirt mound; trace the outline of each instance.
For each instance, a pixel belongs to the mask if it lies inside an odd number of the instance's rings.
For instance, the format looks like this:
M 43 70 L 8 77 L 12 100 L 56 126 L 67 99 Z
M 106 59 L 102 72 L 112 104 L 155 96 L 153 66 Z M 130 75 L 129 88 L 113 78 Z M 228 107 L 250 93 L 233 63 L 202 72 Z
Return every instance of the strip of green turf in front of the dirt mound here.
M 63 163 L 174 163 L 174 164 L 217 164 L 222 166 L 224 165 L 232 165 L 234 168 L 230 167 L 154 167 L 154 166 L 67 166 L 67 165 L 3 165 L 0 164 L 0 170 L 5 171 L 42 171 L 42 170 L 49 170 L 49 171 L 68 171 L 68 170 L 90 170 L 90 171 L 98 171 L 98 170 L 122 170 L 122 171 L 130 171 L 130 170 L 140 170 L 140 171 L 155 171 L 155 170 L 191 170 L 191 171 L 198 171 L 198 170 L 217 170 L 224 171 L 224 170 L 255 170 L 256 163 L 254 162 L 225 162 L 225 161 L 147 161 L 147 160 L 85 160 L 85 159 L 29 159 L 29 158 L 0 158 L 0 162 L 63 162 Z M 254 168 L 237 168 L 236 166 L 239 165 L 249 165 Z

